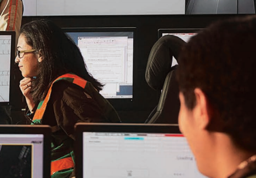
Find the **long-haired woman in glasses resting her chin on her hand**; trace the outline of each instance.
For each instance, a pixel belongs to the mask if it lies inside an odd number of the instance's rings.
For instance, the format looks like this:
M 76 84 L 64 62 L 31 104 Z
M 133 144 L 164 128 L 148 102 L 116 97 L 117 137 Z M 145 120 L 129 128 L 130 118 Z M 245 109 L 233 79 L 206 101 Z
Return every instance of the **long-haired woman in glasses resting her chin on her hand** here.
M 76 44 L 53 22 L 22 26 L 17 50 L 26 115 L 32 124 L 48 124 L 53 130 L 51 175 L 73 177 L 75 123 L 121 122 L 120 118 L 99 94 L 103 85 L 88 73 Z

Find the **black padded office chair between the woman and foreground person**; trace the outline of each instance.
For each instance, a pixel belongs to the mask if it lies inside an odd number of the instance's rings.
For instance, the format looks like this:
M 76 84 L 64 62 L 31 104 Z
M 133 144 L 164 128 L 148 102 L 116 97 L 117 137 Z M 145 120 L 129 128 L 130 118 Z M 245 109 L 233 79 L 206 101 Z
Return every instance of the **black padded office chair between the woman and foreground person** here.
M 151 49 L 145 77 L 147 84 L 161 92 L 161 96 L 145 123 L 178 123 L 180 101 L 178 83 L 175 79 L 178 65 L 172 67 L 172 61 L 173 57 L 178 59 L 185 43 L 174 35 L 164 35 Z M 177 62 L 179 63 L 178 60 Z

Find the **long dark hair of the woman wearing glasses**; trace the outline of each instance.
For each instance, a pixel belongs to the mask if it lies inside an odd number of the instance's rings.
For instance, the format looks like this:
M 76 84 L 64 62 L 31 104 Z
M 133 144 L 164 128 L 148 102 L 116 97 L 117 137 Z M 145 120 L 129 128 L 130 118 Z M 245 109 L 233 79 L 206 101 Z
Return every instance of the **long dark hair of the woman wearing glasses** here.
M 33 82 L 33 98 L 43 99 L 49 84 L 58 76 L 70 72 L 92 82 L 97 90 L 101 90 L 103 85 L 87 72 L 77 45 L 52 21 L 36 20 L 26 23 L 21 27 L 20 33 L 43 59 L 38 64 L 38 76 Z

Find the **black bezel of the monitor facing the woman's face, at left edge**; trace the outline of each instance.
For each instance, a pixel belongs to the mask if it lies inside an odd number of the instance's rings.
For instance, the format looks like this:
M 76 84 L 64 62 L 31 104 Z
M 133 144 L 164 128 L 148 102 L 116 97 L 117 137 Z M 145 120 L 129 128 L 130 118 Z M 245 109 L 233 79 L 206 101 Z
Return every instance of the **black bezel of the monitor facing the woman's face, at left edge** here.
M 10 52 L 10 81 L 9 81 L 9 102 L 0 102 L 1 106 L 13 105 L 15 102 L 13 91 L 14 86 L 14 67 L 15 67 L 15 48 L 16 48 L 16 32 L 15 31 L 0 31 L 0 35 L 11 36 L 11 52 Z

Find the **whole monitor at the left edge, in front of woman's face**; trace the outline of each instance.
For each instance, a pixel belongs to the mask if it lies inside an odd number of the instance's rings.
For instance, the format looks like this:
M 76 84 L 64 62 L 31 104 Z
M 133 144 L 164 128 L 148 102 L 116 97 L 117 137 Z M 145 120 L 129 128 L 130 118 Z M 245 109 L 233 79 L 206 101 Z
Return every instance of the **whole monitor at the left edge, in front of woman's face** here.
M 15 60 L 15 32 L 0 31 L 0 105 L 10 102 L 10 82 Z

